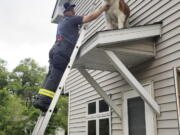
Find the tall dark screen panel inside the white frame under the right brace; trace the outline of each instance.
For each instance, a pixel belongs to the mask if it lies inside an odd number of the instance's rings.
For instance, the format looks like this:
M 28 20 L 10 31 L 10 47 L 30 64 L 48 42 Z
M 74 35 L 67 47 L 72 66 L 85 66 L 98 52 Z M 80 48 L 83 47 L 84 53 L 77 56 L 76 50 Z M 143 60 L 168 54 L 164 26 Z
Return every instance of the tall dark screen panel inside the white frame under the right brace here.
M 140 98 L 128 99 L 129 135 L 146 135 L 145 107 Z

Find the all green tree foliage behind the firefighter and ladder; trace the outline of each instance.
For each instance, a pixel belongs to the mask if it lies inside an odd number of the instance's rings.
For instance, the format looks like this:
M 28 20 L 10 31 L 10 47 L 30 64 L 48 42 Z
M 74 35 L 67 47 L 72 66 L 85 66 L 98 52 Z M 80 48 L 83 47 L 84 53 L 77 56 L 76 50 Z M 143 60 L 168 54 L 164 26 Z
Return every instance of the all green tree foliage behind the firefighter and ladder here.
M 7 71 L 6 64 L 0 59 L 0 135 L 29 135 L 40 114 L 32 106 L 32 97 L 46 70 L 30 58 L 22 60 L 12 72 Z M 59 111 L 53 114 L 47 134 L 55 134 L 58 127 L 67 131 L 67 97 L 62 97 L 57 106 Z

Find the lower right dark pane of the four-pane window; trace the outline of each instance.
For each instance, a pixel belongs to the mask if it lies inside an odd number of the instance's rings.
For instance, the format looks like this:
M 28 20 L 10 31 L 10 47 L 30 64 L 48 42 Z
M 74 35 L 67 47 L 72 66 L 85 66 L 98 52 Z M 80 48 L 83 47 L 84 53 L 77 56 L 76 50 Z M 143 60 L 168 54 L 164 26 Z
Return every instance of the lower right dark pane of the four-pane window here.
M 109 119 L 99 120 L 99 135 L 109 135 Z

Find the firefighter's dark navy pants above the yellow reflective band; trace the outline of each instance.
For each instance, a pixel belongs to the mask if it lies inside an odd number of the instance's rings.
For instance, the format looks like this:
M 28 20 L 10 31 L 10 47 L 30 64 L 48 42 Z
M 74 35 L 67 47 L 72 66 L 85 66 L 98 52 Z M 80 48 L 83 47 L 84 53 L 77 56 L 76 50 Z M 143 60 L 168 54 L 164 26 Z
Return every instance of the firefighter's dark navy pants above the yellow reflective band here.
M 69 63 L 74 46 L 62 40 L 55 43 L 49 52 L 49 72 L 42 88 L 56 91 L 62 75 Z

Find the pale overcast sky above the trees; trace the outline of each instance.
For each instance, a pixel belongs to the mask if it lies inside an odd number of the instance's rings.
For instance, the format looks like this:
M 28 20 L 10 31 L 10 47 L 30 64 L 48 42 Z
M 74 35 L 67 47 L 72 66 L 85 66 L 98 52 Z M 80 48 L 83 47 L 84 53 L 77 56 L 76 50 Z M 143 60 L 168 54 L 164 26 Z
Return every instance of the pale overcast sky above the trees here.
M 51 23 L 56 0 L 0 0 L 0 58 L 12 71 L 21 60 L 33 58 L 48 66 L 48 53 L 57 25 Z

